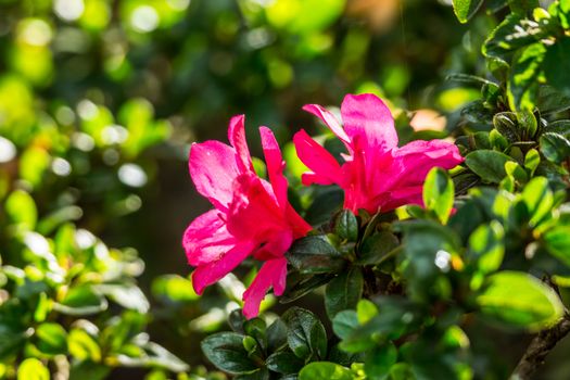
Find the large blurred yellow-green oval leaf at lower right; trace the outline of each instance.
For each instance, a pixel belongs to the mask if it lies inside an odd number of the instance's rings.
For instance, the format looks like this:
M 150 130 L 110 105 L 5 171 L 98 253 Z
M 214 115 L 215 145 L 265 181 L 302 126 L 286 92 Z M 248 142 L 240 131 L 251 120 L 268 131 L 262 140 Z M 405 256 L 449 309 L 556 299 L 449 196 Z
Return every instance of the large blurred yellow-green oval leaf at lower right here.
M 519 271 L 490 276 L 476 302 L 485 317 L 533 331 L 553 326 L 563 315 L 552 288 Z

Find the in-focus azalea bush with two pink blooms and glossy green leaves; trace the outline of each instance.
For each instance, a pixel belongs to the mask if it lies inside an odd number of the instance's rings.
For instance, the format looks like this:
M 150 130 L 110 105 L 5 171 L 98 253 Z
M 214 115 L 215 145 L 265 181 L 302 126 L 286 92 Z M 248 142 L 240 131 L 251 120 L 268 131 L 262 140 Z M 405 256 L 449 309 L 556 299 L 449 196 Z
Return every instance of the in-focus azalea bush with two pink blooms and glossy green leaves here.
M 454 7 L 465 23 L 482 1 Z M 308 186 L 296 193 L 265 127 L 265 166 L 253 164 L 242 116 L 230 122 L 230 145 L 191 148 L 190 175 L 214 206 L 183 238 L 194 289 L 246 259 L 258 267 L 243 309 L 229 317 L 233 331 L 202 341 L 217 368 L 301 380 L 540 372 L 570 331 L 570 78 L 555 67 L 570 53 L 570 3 L 486 10 L 503 20 L 482 47 L 487 75 L 448 78 L 481 89 L 449 126 L 455 144 L 419 134 L 402 143 L 389 107 L 365 93 L 346 96 L 340 115 L 304 107 L 332 136 L 294 136 Z M 299 306 L 259 314 L 269 289 L 286 305 L 318 292 L 326 315 Z M 481 340 L 516 331 L 534 337 L 516 366 L 497 370 L 501 342 Z

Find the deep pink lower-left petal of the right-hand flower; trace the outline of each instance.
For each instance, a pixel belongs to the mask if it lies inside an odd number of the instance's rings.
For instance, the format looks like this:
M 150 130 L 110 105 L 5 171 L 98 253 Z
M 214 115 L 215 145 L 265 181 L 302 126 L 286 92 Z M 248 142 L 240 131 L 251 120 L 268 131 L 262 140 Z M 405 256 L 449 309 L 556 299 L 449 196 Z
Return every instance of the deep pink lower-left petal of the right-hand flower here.
M 303 183 L 332 185 L 340 183 L 340 164 L 334 160 L 325 148 L 313 140 L 307 132 L 302 129 L 293 137 L 296 155 L 311 170 L 303 175 Z

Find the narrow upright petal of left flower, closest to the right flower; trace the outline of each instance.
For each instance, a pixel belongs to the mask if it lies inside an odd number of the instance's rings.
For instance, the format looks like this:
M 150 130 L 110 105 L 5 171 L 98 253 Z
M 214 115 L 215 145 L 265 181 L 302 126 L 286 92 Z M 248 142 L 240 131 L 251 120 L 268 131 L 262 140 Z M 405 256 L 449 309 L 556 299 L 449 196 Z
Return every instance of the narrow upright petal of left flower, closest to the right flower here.
M 283 175 L 284 161 L 281 155 L 281 150 L 269 128 L 261 127 L 259 134 L 262 136 L 262 147 L 265 155 L 265 163 L 267 164 L 269 182 L 271 183 L 277 202 L 279 202 L 282 210 L 286 210 L 288 204 L 288 182 Z

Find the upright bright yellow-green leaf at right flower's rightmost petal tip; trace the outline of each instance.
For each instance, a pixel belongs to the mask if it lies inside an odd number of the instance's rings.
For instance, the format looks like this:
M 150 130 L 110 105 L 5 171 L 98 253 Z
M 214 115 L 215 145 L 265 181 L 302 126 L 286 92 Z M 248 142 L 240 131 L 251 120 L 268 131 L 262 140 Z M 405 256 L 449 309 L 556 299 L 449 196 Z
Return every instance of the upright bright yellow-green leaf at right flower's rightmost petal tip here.
M 447 172 L 434 167 L 423 183 L 423 205 L 435 213 L 442 224 L 446 224 L 453 208 L 455 192 Z

